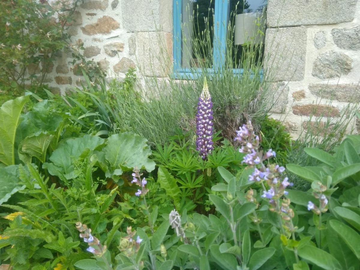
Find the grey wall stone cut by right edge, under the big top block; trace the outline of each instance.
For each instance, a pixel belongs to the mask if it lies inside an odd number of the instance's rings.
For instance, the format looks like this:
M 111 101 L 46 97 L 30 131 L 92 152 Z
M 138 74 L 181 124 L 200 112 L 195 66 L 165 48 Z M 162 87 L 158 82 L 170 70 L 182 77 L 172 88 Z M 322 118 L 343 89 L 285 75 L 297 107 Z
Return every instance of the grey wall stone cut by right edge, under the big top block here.
M 360 26 L 350 29 L 340 28 L 331 31 L 334 43 L 341 49 L 359 50 L 360 49 Z

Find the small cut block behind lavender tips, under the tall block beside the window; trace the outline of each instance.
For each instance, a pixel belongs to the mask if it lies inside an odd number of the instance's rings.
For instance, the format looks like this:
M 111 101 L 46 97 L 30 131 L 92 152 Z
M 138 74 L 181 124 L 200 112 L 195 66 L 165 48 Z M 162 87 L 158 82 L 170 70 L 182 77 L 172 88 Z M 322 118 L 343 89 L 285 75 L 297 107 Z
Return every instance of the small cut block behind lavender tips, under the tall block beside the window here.
M 286 110 L 288 104 L 289 86 L 282 83 L 272 83 L 269 87 L 269 96 L 273 96 L 273 100 L 269 100 L 271 107 L 270 112 L 283 113 Z

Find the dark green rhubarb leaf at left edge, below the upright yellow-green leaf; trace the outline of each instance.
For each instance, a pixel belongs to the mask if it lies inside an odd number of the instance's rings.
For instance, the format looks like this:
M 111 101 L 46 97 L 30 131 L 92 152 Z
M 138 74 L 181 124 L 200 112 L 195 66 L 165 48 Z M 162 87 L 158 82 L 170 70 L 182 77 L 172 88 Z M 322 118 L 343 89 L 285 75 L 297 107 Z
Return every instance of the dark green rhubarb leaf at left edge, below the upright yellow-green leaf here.
M 0 168 L 0 205 L 25 186 L 19 184 L 19 165 Z

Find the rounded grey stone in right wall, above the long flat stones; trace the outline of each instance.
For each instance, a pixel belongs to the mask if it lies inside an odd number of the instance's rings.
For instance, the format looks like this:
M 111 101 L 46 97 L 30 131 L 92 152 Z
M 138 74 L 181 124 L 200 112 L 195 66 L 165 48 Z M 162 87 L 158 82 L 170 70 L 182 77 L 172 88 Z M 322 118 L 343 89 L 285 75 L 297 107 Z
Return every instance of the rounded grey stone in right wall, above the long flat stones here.
M 312 67 L 312 76 L 328 79 L 347 75 L 351 71 L 352 59 L 346 54 L 327 51 L 318 55 Z

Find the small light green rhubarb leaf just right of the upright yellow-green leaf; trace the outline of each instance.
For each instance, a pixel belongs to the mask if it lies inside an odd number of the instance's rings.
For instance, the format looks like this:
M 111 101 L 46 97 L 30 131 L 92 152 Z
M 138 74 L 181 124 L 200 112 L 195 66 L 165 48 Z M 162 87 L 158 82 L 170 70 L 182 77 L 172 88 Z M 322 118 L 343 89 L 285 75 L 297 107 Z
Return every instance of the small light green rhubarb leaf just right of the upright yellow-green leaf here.
M 21 143 L 21 153 L 30 157 L 36 157 L 42 163 L 45 162 L 46 151 L 54 135 L 48 132 L 39 131 L 33 135 L 27 136 Z

